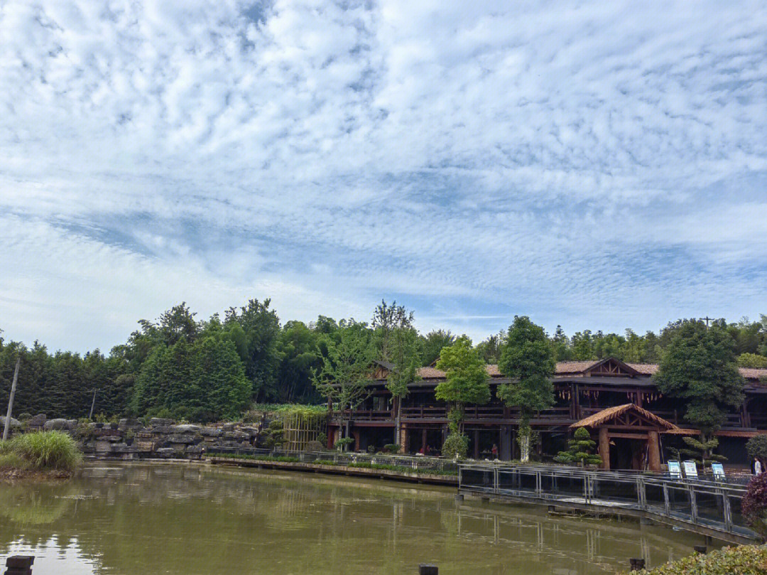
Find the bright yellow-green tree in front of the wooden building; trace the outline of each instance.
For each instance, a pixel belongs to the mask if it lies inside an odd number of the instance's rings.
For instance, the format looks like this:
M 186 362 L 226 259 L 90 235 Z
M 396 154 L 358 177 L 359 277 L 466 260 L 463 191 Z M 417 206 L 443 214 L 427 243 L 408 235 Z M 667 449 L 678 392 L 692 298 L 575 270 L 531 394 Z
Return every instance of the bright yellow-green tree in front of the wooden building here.
M 455 424 L 451 433 L 463 434 L 463 411 L 466 404 L 482 405 L 490 401 L 489 375 L 485 362 L 472 342 L 462 335 L 453 345 L 442 349 L 436 368 L 445 372 L 434 395 L 450 406 L 449 420 Z

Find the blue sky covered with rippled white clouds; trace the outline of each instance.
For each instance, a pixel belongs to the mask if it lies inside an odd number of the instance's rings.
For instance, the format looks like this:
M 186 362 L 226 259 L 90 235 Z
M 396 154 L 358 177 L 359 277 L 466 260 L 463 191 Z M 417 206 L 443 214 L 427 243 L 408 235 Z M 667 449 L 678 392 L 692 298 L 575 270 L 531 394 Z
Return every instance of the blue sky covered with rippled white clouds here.
M 0 329 L 767 313 L 767 4 L 0 0 Z

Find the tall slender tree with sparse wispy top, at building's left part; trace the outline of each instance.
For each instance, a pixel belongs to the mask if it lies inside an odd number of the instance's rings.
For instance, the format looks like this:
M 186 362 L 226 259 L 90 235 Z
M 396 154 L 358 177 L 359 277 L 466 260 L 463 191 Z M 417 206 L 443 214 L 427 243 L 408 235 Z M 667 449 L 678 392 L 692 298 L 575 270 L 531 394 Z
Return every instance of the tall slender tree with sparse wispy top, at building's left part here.
M 402 399 L 409 392 L 407 386 L 416 381 L 420 363 L 413 312 L 396 301 L 388 306 L 382 300 L 373 313 L 373 328 L 379 358 L 392 364 L 386 386 L 394 402 L 394 442 L 399 444 Z

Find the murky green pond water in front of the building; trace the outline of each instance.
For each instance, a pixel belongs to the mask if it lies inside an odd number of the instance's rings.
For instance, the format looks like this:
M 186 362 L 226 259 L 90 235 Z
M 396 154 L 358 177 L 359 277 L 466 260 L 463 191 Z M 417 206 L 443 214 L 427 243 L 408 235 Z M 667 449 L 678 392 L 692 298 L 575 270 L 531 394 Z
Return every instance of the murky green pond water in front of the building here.
M 701 538 L 454 500 L 455 489 L 186 464 L 97 464 L 64 484 L 0 484 L 0 560 L 35 575 L 587 575 L 656 566 Z

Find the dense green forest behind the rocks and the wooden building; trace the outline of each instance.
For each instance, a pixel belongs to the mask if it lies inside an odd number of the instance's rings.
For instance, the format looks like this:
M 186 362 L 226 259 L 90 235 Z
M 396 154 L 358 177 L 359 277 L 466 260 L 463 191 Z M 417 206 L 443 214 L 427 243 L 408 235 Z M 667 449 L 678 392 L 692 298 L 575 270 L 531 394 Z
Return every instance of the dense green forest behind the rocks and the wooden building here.
M 280 321 L 269 299 L 198 319 L 185 302 L 156 320 L 141 319 L 139 328 L 106 355 L 95 349 L 84 355 L 49 352 L 41 342 L 30 346 L 0 337 L 0 405 L 8 402 L 16 359 L 20 359 L 15 414 L 83 418 L 164 415 L 177 419 L 216 421 L 238 418 L 254 403 L 324 401 L 317 375 L 338 346 L 344 330 L 370 332 L 371 357 L 397 361 L 397 334 L 380 321 L 380 310 L 411 312 L 385 302 L 371 311 L 370 322 L 318 316 L 308 324 Z M 446 346 L 456 342 L 449 330 L 422 334 L 407 315 L 407 354 L 403 365 L 433 365 Z M 670 322 L 657 334 L 639 335 L 584 330 L 566 335 L 561 327 L 546 334 L 556 361 L 602 359 L 658 363 L 687 320 Z M 393 323 L 396 325 L 396 322 Z M 714 324 L 726 332 L 741 367 L 767 367 L 767 316 Z M 2 332 L 0 332 L 0 335 Z M 483 362 L 497 364 L 505 349 L 505 331 L 474 346 Z M 401 347 L 401 346 L 400 346 Z M 404 348 L 403 348 L 404 349 Z M 392 351 L 394 350 L 394 352 Z

